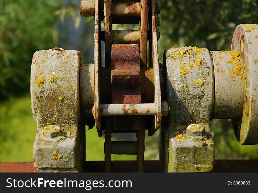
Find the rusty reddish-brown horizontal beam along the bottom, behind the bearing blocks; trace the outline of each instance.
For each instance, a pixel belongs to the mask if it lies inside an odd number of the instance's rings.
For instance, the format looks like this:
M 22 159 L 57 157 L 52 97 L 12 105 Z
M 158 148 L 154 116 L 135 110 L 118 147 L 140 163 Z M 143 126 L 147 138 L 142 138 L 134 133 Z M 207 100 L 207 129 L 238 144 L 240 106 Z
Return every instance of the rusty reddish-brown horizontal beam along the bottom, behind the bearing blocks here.
M 85 172 L 104 172 L 104 161 L 86 161 Z M 112 161 L 113 172 L 134 172 L 135 161 Z M 160 172 L 159 160 L 145 160 L 144 172 Z M 38 172 L 33 162 L 2 162 L 0 172 Z M 258 172 L 258 160 L 215 160 L 211 172 Z

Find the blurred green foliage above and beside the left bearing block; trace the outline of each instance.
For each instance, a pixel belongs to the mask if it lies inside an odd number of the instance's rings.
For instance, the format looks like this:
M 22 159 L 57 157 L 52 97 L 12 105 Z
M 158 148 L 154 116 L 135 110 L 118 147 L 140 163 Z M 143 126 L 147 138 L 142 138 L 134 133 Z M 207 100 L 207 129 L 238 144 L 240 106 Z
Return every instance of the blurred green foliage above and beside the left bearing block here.
M 55 0 L 0 2 L 0 99 L 28 93 L 32 55 L 57 41 L 54 12 L 62 6 Z

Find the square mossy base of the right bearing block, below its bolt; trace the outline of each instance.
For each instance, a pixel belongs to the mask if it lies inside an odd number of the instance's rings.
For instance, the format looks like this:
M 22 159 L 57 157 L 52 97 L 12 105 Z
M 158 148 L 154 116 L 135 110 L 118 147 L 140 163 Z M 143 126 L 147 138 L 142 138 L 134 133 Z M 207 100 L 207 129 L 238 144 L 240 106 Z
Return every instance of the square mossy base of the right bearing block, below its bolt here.
M 201 126 L 204 130 L 204 127 Z M 187 130 L 188 131 L 188 130 Z M 205 131 L 205 130 L 204 130 Z M 203 136 L 178 134 L 169 141 L 168 172 L 207 172 L 213 169 L 214 143 Z

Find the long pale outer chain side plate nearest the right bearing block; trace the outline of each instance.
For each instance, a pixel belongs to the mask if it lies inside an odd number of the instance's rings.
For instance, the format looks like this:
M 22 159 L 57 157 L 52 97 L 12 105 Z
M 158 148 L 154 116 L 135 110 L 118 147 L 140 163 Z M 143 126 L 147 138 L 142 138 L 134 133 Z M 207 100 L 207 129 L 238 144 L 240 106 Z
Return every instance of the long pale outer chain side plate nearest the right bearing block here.
M 161 127 L 161 89 L 160 89 L 160 74 L 159 74 L 159 58 L 158 58 L 158 44 L 157 44 L 157 24 L 155 2 L 152 0 L 152 66 L 154 69 L 154 100 L 157 107 L 157 115 L 155 115 L 155 126 L 150 127 L 149 136 L 152 136 Z

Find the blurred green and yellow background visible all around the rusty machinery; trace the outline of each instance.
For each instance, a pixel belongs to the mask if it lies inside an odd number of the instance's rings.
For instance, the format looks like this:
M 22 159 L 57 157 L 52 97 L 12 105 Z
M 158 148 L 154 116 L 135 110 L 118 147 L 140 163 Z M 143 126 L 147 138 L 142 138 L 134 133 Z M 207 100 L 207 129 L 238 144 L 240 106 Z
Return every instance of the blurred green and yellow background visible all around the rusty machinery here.
M 230 50 L 237 25 L 258 23 L 257 5 L 256 0 L 161 0 L 160 62 L 171 47 Z M 79 0 L 0 1 L 0 162 L 33 161 L 30 65 L 34 52 L 55 46 L 80 50 L 83 63 L 94 63 L 94 18 L 80 17 Z M 211 131 L 215 159 L 258 159 L 258 145 L 240 145 L 230 120 L 213 120 Z M 158 140 L 158 132 L 146 137 L 145 160 L 159 159 Z M 103 145 L 95 128 L 86 129 L 86 160 L 104 160 Z

